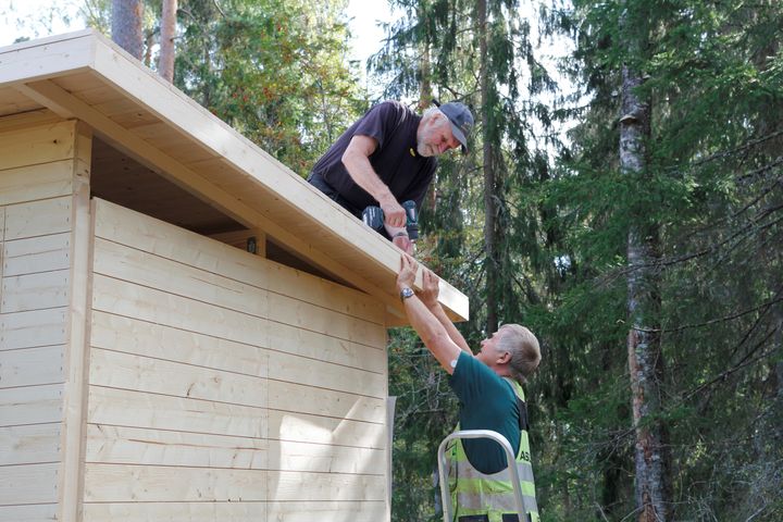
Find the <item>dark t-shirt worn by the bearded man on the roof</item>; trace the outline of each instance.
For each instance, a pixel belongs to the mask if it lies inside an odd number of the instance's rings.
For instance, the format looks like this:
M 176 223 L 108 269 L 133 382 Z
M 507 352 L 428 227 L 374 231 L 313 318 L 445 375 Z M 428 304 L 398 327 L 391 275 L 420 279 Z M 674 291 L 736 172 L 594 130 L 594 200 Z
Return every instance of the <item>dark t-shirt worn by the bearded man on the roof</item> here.
M 312 172 L 321 174 L 356 210 L 377 204 L 375 198 L 353 182 L 343 164 L 343 153 L 351 138 L 369 136 L 377 141 L 369 159 L 381 181 L 389 187 L 397 201 L 401 203 L 412 199 L 421 208 L 437 160 L 423 158 L 415 150 L 419 122 L 421 116 L 401 103 L 384 101 L 348 127 L 315 163 Z

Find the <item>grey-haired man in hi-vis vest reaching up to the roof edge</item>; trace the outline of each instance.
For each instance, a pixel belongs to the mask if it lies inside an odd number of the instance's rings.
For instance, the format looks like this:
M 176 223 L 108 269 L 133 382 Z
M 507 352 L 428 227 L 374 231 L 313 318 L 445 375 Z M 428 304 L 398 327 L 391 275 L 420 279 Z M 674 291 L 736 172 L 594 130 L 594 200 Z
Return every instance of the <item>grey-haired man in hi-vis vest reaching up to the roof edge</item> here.
M 397 276 L 406 314 L 424 345 L 451 377 L 460 401 L 458 430 L 492 430 L 504 435 L 517 456 L 527 521 L 538 522 L 522 384 L 540 362 L 530 330 L 506 324 L 481 344 L 475 356 L 437 301 L 438 278 L 422 271 L 422 290 L 413 290 L 418 263 L 402 254 Z M 457 440 L 449 453 L 449 488 L 456 522 L 517 522 L 506 453 L 488 439 Z M 525 522 L 527 522 L 525 521 Z

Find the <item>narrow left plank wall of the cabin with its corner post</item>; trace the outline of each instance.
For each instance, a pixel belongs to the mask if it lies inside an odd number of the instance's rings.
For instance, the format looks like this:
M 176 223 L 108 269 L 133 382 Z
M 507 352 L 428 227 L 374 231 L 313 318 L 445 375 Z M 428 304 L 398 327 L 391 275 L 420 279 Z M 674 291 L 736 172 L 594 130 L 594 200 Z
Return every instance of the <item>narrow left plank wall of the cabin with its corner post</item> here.
M 69 520 L 63 510 L 75 504 L 63 498 L 79 487 L 65 480 L 78 475 L 79 442 L 67 427 L 78 432 L 82 421 L 74 369 L 84 365 L 86 324 L 70 311 L 85 308 L 84 288 L 73 285 L 86 286 L 89 133 L 76 122 L 41 125 L 47 120 L 39 112 L 0 119 L 3 521 Z

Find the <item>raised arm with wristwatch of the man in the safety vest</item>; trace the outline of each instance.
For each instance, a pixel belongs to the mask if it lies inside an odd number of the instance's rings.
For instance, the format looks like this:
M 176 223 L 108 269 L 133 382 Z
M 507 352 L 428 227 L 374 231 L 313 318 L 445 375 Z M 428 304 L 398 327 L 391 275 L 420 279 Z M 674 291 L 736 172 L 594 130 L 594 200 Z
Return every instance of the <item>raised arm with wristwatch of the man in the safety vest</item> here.
M 410 256 L 402 256 L 400 272 L 397 276 L 397 289 L 412 288 L 415 279 L 417 262 Z M 421 337 L 424 346 L 435 356 L 435 359 L 446 370 L 453 373 L 453 363 L 462 349 L 451 339 L 449 333 L 427 307 L 414 295 L 405 299 L 405 309 L 408 320 Z M 463 339 L 464 341 L 464 339 Z M 468 350 L 470 353 L 470 350 Z

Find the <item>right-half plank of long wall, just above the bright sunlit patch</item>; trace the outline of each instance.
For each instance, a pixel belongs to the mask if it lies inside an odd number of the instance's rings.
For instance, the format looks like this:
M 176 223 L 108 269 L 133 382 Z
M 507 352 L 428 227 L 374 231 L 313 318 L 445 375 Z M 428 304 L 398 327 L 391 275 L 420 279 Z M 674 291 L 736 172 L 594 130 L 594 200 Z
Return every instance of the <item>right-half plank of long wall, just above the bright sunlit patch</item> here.
M 345 394 L 296 383 L 269 381 L 269 408 L 312 415 L 383 423 L 386 399 Z

